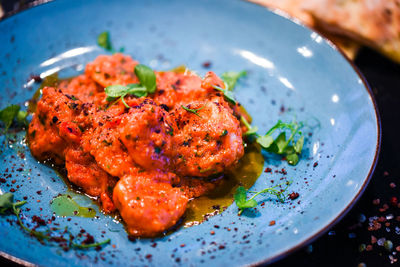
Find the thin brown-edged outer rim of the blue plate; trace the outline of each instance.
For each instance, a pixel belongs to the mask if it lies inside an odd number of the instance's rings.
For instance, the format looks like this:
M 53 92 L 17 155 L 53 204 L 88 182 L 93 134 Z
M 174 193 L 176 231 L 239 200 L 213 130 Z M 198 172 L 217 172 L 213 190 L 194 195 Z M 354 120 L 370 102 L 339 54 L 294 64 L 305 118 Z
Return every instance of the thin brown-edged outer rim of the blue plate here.
M 375 99 L 375 96 L 373 94 L 372 88 L 369 85 L 367 79 L 364 77 L 364 75 L 362 74 L 362 72 L 358 69 L 358 67 L 354 64 L 354 62 L 343 52 L 343 50 L 338 47 L 336 44 L 334 44 L 331 40 L 329 40 L 325 34 L 323 34 L 320 30 L 317 29 L 313 29 L 307 25 L 305 25 L 303 22 L 301 22 L 299 19 L 289 15 L 287 12 L 282 11 L 280 9 L 277 8 L 270 8 L 270 7 L 265 7 L 262 6 L 260 4 L 254 3 L 254 2 L 250 2 L 249 0 L 238 0 L 238 1 L 242 1 L 242 2 L 247 2 L 249 4 L 252 5 L 256 5 L 259 6 L 260 8 L 264 8 L 267 11 L 283 17 L 297 25 L 299 25 L 300 27 L 303 27 L 311 32 L 315 32 L 317 33 L 319 36 L 321 36 L 321 38 L 323 38 L 323 40 L 336 52 L 338 52 L 345 60 L 346 62 L 352 67 L 352 69 L 354 70 L 354 72 L 356 73 L 356 75 L 360 78 L 360 80 L 363 83 L 363 87 L 364 89 L 367 91 L 367 94 L 369 95 L 372 105 L 373 105 L 373 109 L 375 111 L 375 118 L 376 118 L 376 123 L 377 123 L 377 140 L 376 140 L 376 146 L 375 146 L 375 154 L 374 154 L 374 159 L 372 161 L 371 167 L 368 171 L 368 174 L 366 176 L 366 178 L 364 179 L 363 184 L 361 185 L 360 189 L 358 190 L 357 194 L 355 194 L 355 196 L 353 197 L 353 199 L 347 204 L 347 206 L 345 208 L 343 208 L 340 213 L 333 219 L 331 220 L 328 224 L 326 224 L 324 227 L 322 227 L 320 230 L 318 230 L 316 233 L 314 233 L 313 235 L 307 237 L 305 240 L 303 240 L 302 242 L 298 243 L 295 246 L 292 246 L 289 249 L 286 249 L 278 254 L 276 254 L 275 256 L 266 258 L 265 260 L 260 260 L 257 262 L 253 262 L 253 263 L 249 263 L 249 264 L 245 264 L 243 266 L 260 266 L 260 265 L 265 265 L 265 264 L 271 264 L 273 262 L 277 262 L 285 257 L 287 257 L 288 255 L 294 253 L 295 251 L 298 251 L 299 249 L 305 247 L 306 245 L 312 243 L 313 241 L 315 241 L 316 239 L 318 239 L 319 237 L 321 237 L 323 234 L 325 234 L 329 229 L 331 229 L 333 226 L 335 226 L 338 222 L 340 222 L 343 217 L 354 207 L 354 205 L 358 202 L 358 200 L 361 198 L 361 196 L 363 195 L 364 191 L 366 190 L 366 188 L 368 187 L 369 182 L 372 179 L 372 176 L 375 172 L 376 169 L 376 165 L 378 163 L 378 159 L 379 159 L 379 154 L 381 151 L 381 147 L 382 147 L 382 121 L 381 121 L 381 117 L 380 117 L 380 113 L 379 113 L 379 109 L 378 109 L 378 104 L 377 101 Z M 1 19 L 0 19 L 0 23 L 2 23 L 3 21 L 14 17 L 15 15 L 21 14 L 22 12 L 26 12 L 28 10 L 31 10 L 32 8 L 35 7 L 39 7 L 39 6 L 43 6 L 49 3 L 55 2 L 55 0 L 35 0 L 32 3 L 22 7 L 21 9 L 17 10 L 17 11 L 12 11 L 12 12 L 8 12 L 6 13 Z M 8 254 L 4 251 L 0 251 L 0 258 L 2 259 L 6 259 L 8 261 L 11 261 L 13 263 L 17 263 L 19 265 L 22 266 L 38 266 L 32 262 L 26 261 L 24 259 L 21 259 L 19 257 L 13 256 L 11 254 Z

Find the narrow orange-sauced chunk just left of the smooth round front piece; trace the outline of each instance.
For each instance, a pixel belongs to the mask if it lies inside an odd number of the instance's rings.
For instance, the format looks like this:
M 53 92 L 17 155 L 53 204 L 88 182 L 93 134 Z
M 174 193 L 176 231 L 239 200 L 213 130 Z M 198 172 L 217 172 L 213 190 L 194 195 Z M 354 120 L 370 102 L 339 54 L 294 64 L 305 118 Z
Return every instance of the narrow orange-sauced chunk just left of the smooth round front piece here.
M 107 213 L 115 210 L 111 200 L 111 190 L 116 179 L 103 171 L 93 157 L 81 149 L 68 149 L 65 156 L 68 180 L 81 187 L 85 193 L 100 197 L 103 210 Z

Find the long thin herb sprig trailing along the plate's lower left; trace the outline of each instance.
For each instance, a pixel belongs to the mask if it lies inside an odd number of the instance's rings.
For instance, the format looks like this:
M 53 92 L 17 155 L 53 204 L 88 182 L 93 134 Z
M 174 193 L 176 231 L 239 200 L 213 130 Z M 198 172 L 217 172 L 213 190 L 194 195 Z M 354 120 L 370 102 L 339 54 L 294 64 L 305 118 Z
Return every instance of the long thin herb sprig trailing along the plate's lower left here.
M 18 224 L 21 226 L 21 228 L 29 233 L 31 236 L 35 237 L 37 240 L 40 242 L 50 242 L 50 244 L 61 244 L 63 248 L 73 248 L 73 249 L 89 249 L 93 247 L 101 247 L 103 245 L 106 245 L 110 243 L 110 239 L 106 239 L 102 242 L 97 242 L 97 243 L 84 243 L 82 242 L 81 244 L 75 243 L 73 240 L 77 239 L 75 236 L 72 235 L 72 233 L 68 230 L 66 227 L 61 236 L 55 236 L 54 231 L 59 230 L 56 228 L 46 229 L 44 231 L 37 231 L 35 229 L 30 229 L 28 228 L 21 219 L 21 206 L 26 204 L 26 201 L 19 201 L 19 202 L 14 202 L 14 195 L 12 193 L 4 193 L 0 195 L 0 214 L 4 215 L 7 213 L 12 213 L 17 217 Z M 68 235 L 68 239 L 64 238 L 64 235 Z

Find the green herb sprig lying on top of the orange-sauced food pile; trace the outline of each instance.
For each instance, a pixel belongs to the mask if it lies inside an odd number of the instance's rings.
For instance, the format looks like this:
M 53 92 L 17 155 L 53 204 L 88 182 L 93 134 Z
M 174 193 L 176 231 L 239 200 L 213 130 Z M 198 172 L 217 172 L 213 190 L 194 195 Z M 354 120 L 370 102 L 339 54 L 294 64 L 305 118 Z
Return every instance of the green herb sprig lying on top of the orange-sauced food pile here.
M 156 75 L 151 68 L 138 64 L 135 66 L 135 74 L 140 83 L 107 86 L 104 89 L 107 94 L 107 101 L 114 101 L 116 98 L 120 98 L 125 107 L 129 108 L 129 105 L 125 102 L 125 96 L 144 97 L 156 91 Z

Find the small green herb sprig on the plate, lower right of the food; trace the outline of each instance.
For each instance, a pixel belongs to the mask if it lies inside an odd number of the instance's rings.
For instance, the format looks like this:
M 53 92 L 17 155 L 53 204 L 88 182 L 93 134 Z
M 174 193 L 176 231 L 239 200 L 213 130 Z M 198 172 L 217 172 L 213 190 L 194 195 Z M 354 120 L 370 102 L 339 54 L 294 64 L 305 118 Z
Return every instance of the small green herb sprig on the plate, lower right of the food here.
M 283 185 L 286 185 L 286 187 L 282 188 Z M 256 207 L 258 203 L 254 198 L 260 194 L 271 194 L 271 195 L 276 196 L 280 202 L 282 202 L 282 203 L 285 202 L 285 199 L 286 199 L 285 191 L 289 187 L 289 185 L 291 185 L 291 182 L 286 181 L 286 182 L 278 184 L 276 186 L 265 188 L 258 192 L 257 191 L 249 191 L 249 190 L 246 190 L 243 186 L 239 186 L 236 189 L 236 192 L 234 195 L 236 206 L 238 206 L 238 208 L 239 208 L 239 215 L 245 209 Z M 254 195 L 251 198 L 247 199 L 247 193 L 253 193 Z

